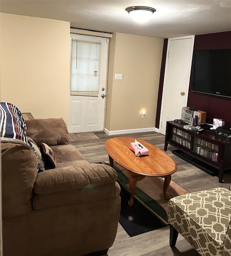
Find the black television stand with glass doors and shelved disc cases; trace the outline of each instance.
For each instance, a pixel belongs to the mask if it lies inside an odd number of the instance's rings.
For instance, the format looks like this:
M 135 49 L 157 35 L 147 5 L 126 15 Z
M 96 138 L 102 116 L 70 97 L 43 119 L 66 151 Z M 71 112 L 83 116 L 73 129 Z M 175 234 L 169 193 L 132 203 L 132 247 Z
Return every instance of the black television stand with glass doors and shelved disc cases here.
M 222 183 L 225 170 L 231 169 L 231 140 L 222 138 L 210 131 L 197 133 L 183 128 L 184 123 L 167 121 L 165 147 L 168 144 L 179 149 L 184 154 L 206 164 L 206 172 L 216 175 Z

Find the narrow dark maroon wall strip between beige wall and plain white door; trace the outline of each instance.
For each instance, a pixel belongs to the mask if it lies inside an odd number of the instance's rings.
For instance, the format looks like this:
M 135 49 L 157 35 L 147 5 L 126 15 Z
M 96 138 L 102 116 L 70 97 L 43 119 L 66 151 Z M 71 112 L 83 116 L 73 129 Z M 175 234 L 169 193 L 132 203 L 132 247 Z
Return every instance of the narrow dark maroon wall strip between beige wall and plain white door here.
M 156 128 L 160 127 L 160 111 L 161 111 L 161 102 L 162 102 L 162 94 L 164 87 L 164 76 L 165 76 L 165 63 L 167 56 L 167 41 L 168 39 L 164 39 L 164 47 L 162 53 L 162 61 L 161 61 L 161 69 L 160 69 L 160 83 L 159 83 L 159 91 L 158 91 L 158 99 L 157 99 L 157 110 L 156 110 Z

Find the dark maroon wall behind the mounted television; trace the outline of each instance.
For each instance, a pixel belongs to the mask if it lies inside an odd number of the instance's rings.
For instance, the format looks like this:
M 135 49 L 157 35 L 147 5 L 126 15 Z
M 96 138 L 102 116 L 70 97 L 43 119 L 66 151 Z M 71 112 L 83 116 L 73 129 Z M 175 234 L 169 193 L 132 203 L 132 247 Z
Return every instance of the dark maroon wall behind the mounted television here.
M 195 36 L 194 50 L 213 49 L 231 49 L 231 31 Z M 191 91 L 191 80 L 187 106 L 205 111 L 206 122 L 212 123 L 213 118 L 223 118 L 225 125 L 231 126 L 231 98 Z

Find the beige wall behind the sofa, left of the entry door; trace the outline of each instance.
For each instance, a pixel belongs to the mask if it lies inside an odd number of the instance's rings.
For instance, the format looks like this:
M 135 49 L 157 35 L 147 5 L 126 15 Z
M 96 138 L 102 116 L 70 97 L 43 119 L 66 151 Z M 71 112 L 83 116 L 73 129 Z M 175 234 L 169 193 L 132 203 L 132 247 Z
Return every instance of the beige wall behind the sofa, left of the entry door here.
M 70 23 L 1 13 L 1 101 L 68 123 Z

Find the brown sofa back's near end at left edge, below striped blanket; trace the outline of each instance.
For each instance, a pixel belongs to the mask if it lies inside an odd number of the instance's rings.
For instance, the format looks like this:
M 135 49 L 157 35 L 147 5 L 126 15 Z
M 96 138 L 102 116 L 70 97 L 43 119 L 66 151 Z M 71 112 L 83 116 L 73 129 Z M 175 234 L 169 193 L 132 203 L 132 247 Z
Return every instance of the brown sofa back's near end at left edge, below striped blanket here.
M 36 155 L 27 145 L 1 143 L 2 215 L 12 218 L 32 211 L 37 176 Z

